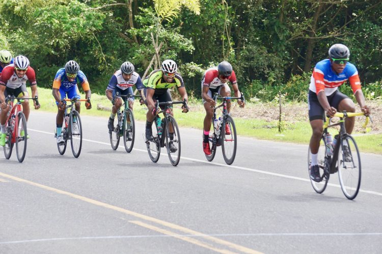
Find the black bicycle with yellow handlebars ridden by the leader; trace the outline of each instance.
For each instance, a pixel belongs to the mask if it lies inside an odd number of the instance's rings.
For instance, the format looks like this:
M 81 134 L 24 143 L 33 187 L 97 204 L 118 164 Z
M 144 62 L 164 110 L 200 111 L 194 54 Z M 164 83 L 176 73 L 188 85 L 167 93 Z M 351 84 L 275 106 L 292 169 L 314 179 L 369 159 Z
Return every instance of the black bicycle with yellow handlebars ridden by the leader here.
M 320 147 L 318 150 L 318 166 L 320 172 L 320 182 L 313 181 L 310 177 L 313 189 L 317 193 L 323 193 L 328 185 L 329 177 L 331 174 L 338 172 L 338 177 L 341 189 L 346 198 L 352 200 L 357 197 L 361 185 L 361 157 L 360 151 L 354 138 L 346 133 L 344 120 L 346 117 L 354 117 L 364 115 L 363 112 L 358 113 L 336 113 L 334 116 L 339 117 L 340 121 L 334 124 L 330 123 L 331 118 L 326 117 L 323 125 L 323 133 L 320 140 Z M 364 128 L 369 122 L 370 117 L 366 117 Z M 338 135 L 335 135 L 336 144 L 334 145 L 333 152 L 331 147 L 326 144 L 326 135 L 328 135 L 328 128 L 340 125 Z M 334 141 L 335 142 L 335 141 Z M 349 157 L 345 157 L 344 146 L 348 147 Z M 346 148 L 347 149 L 347 148 Z M 332 155 L 331 155 L 332 153 Z M 308 172 L 310 174 L 311 151 L 308 150 Z

